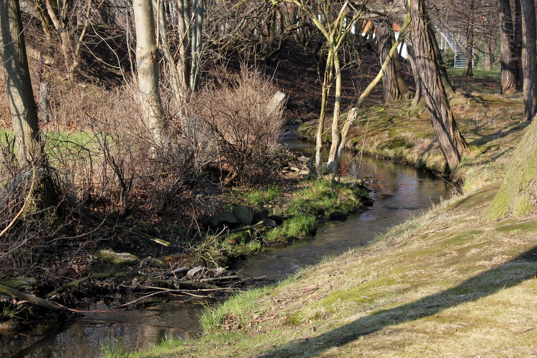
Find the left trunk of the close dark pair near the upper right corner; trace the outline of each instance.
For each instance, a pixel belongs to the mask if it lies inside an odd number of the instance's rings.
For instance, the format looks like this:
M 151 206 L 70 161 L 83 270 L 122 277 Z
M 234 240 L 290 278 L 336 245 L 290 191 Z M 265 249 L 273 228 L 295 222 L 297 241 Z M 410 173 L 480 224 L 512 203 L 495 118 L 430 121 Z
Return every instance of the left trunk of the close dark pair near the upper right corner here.
M 513 20 L 509 0 L 500 0 L 500 65 L 502 93 L 517 91 L 517 69 L 513 63 Z

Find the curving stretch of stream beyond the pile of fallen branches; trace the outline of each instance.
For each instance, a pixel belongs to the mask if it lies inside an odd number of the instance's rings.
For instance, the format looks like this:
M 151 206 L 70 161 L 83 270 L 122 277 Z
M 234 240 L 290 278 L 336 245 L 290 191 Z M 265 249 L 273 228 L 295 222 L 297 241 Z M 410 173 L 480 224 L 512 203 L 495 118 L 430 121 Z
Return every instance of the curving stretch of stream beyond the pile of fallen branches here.
M 311 143 L 298 140 L 293 133 L 286 134 L 284 141 L 298 154 L 310 156 L 313 152 Z M 353 153 L 344 153 L 342 161 L 348 163 L 354 157 Z M 325 149 L 323 160 L 327 158 L 328 150 Z M 266 249 L 251 258 L 255 261 L 243 273 L 251 276 L 267 275 L 274 280 L 284 279 L 301 267 L 364 244 L 412 215 L 422 214 L 441 198 L 448 198 L 453 189 L 443 179 L 430 173 L 364 156 L 359 178 L 366 176 L 378 179 L 371 185 L 375 191 L 372 193 L 375 198 L 373 207 L 353 214 L 347 220 L 320 225 L 314 238 Z M 242 262 L 240 267 L 245 264 Z

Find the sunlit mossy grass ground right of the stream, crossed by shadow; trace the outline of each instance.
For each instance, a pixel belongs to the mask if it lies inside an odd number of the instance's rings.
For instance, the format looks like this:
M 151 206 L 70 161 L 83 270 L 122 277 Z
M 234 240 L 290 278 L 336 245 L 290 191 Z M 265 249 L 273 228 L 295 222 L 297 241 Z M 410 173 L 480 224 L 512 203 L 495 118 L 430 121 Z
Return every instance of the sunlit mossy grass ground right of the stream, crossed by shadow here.
M 489 79 L 457 81 L 481 86 Z M 537 216 L 480 217 L 524 133 L 521 99 L 481 91 L 455 100 L 471 148 L 455 171 L 465 194 L 277 286 L 234 296 L 204 317 L 207 332 L 197 340 L 170 340 L 132 356 L 537 355 Z M 402 107 L 368 109 L 375 113 L 370 152 L 392 135 L 413 144 L 408 149 L 430 136 L 428 114 L 402 115 Z M 397 148 L 404 146 L 379 153 Z

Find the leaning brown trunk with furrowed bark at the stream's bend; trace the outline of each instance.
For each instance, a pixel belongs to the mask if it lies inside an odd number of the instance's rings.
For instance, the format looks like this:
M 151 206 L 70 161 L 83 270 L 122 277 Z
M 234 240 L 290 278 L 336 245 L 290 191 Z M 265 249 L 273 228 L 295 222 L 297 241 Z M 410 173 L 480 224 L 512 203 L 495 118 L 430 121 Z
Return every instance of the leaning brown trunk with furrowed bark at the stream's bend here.
M 449 106 L 447 95 L 440 75 L 439 61 L 434 50 L 434 43 L 427 16 L 425 1 L 417 0 L 411 4 L 412 45 L 416 55 L 417 71 L 425 91 L 425 101 L 431 114 L 431 122 L 440 150 L 446 158 L 449 169 L 459 164 L 468 152 L 468 145 L 457 128 L 455 118 Z

